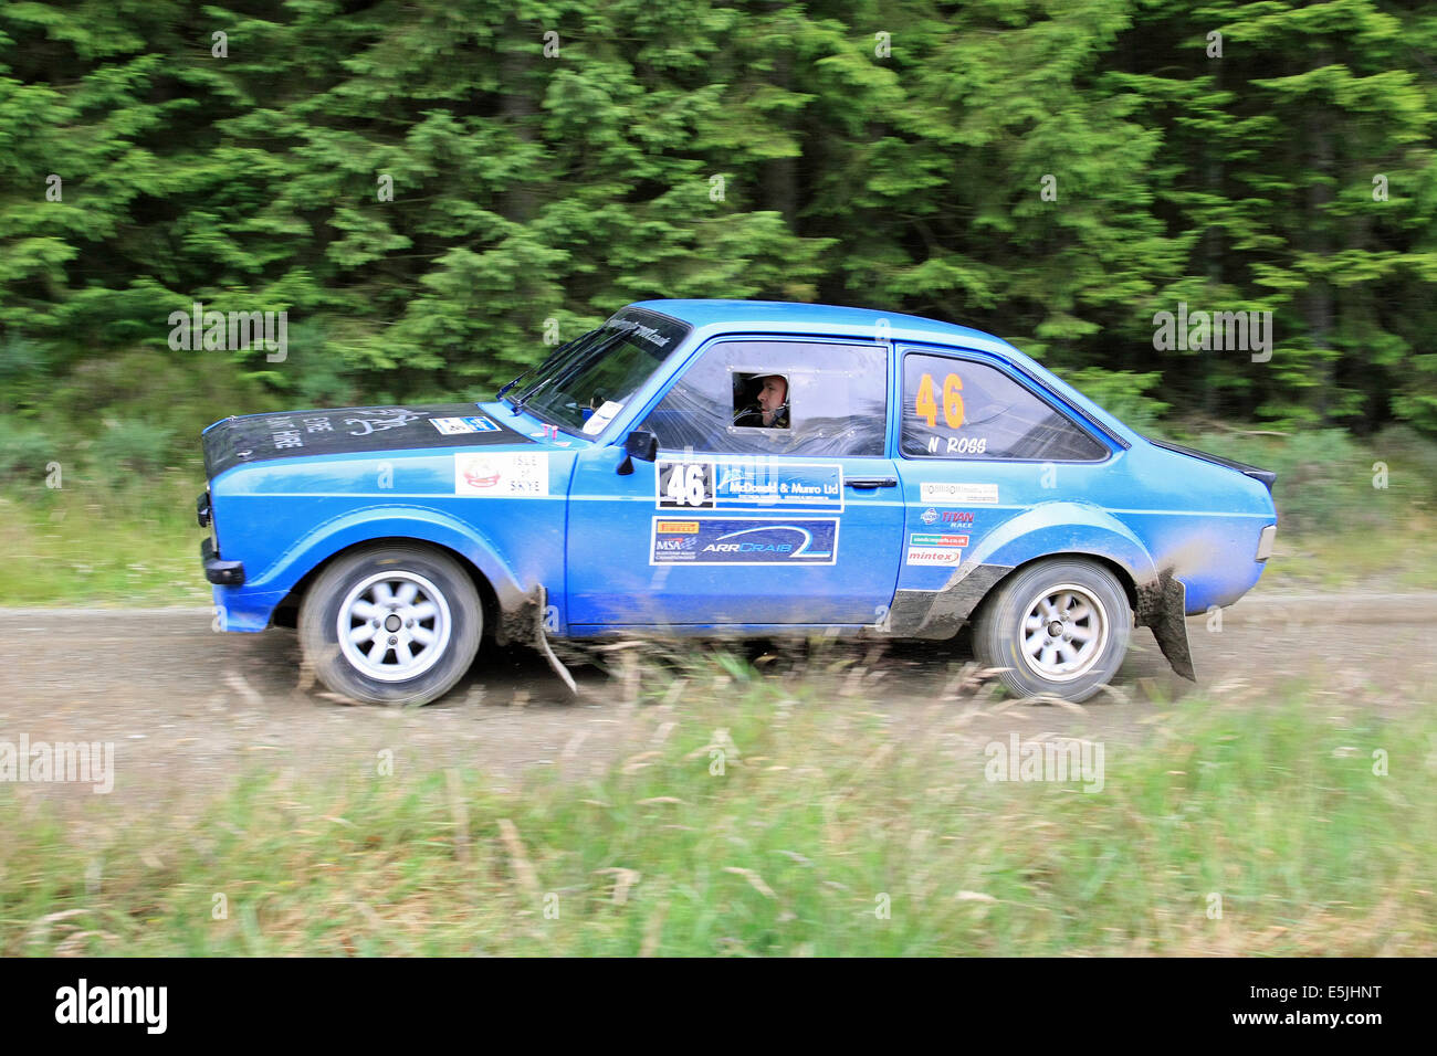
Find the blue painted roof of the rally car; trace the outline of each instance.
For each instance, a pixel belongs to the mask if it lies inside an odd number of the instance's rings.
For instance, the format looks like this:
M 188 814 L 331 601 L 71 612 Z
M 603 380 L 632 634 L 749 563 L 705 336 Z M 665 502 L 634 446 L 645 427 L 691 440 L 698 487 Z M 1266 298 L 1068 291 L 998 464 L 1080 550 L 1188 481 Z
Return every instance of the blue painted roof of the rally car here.
M 894 341 L 957 342 L 970 348 L 1016 352 L 1002 338 L 957 323 L 940 323 L 902 312 L 839 305 L 805 305 L 789 300 L 639 300 L 629 307 L 678 319 L 696 330 L 809 330 L 810 333 L 872 332 L 881 319 L 888 322 Z M 703 335 L 707 336 L 707 335 Z

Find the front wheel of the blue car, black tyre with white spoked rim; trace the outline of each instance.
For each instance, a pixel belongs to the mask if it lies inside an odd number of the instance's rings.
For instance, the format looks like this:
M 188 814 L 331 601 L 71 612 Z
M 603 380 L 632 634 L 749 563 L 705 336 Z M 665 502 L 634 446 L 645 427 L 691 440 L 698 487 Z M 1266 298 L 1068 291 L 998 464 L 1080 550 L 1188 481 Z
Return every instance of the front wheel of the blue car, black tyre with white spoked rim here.
M 401 603 L 411 585 L 414 593 Z M 339 641 L 342 606 L 352 636 L 376 628 L 351 648 Z M 361 619 L 359 611 L 379 624 Z M 420 543 L 371 546 L 335 559 L 299 608 L 299 644 L 315 675 L 333 693 L 366 704 L 443 697 L 474 662 L 483 629 L 483 605 L 468 573 L 443 550 Z M 369 658 L 381 649 L 378 659 Z

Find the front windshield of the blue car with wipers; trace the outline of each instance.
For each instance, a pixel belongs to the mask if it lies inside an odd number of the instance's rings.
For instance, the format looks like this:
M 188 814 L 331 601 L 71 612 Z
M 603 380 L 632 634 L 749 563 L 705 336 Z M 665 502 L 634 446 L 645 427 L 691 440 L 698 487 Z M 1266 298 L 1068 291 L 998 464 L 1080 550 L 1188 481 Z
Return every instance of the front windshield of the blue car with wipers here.
M 687 332 L 675 319 L 631 309 L 560 348 L 522 379 L 523 389 L 510 398 L 516 408 L 593 435 L 624 409 Z

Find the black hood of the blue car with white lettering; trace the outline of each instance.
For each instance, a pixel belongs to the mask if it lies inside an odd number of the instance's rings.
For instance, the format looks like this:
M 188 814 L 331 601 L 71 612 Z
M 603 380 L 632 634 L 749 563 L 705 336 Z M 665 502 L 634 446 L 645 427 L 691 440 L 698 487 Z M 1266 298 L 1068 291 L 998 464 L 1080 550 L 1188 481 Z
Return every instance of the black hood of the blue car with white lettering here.
M 536 445 L 479 404 L 343 407 L 224 418 L 204 431 L 204 471 L 354 451 Z

